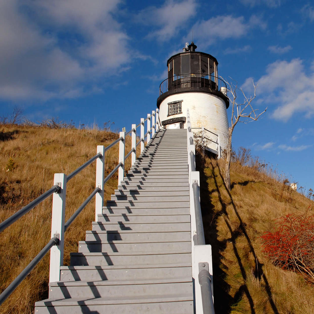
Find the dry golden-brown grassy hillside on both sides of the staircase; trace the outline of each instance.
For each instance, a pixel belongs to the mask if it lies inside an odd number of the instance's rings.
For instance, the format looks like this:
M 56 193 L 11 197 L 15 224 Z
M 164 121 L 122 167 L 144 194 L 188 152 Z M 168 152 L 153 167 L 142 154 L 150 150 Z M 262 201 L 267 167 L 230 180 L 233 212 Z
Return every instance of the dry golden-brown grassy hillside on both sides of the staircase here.
M 49 189 L 55 172 L 69 174 L 96 154 L 96 145 L 107 146 L 118 137 L 74 128 L 2 125 L 0 130 L 0 221 Z M 106 174 L 117 163 L 118 145 L 106 153 Z M 302 275 L 273 266 L 262 252 L 260 237 L 275 227 L 275 219 L 303 214 L 311 201 L 273 178 L 275 173 L 267 174 L 258 163 L 231 165 L 231 193 L 222 180 L 223 160 L 198 160 L 197 166 L 205 236 L 213 250 L 216 313 L 314 313 L 313 287 Z M 110 199 L 116 184 L 114 176 L 106 185 L 105 199 Z M 66 219 L 94 188 L 92 164 L 67 186 Z M 78 241 L 84 240 L 85 230 L 90 230 L 94 210 L 92 201 L 69 227 L 65 265 L 69 253 L 77 252 Z M 48 198 L 0 234 L 0 291 L 49 241 L 50 228 Z M 0 313 L 33 313 L 35 301 L 48 296 L 48 268 L 49 254 L 0 306 Z

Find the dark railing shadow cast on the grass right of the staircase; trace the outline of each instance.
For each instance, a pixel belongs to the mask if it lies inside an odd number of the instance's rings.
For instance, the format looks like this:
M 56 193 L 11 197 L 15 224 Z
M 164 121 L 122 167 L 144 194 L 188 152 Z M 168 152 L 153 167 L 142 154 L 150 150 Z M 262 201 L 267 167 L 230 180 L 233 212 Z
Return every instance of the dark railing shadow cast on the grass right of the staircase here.
M 254 249 L 254 247 L 252 245 L 252 241 L 250 240 L 250 238 L 249 238 L 249 236 L 247 234 L 245 223 L 243 222 L 243 220 L 242 220 L 242 218 L 241 218 L 241 216 L 240 216 L 240 214 L 238 212 L 238 209 L 237 209 L 236 204 L 235 204 L 235 202 L 234 202 L 234 200 L 232 198 L 231 193 L 228 191 L 228 189 L 225 186 L 222 173 L 221 173 L 219 167 L 217 167 L 218 168 L 218 172 L 219 172 L 220 180 L 222 181 L 222 185 L 223 185 L 223 187 L 224 187 L 225 191 L 227 192 L 228 197 L 230 199 L 230 203 L 229 204 L 225 203 L 225 201 L 222 198 L 221 191 L 219 189 L 219 185 L 218 185 L 218 181 L 217 181 L 218 175 L 215 174 L 215 170 L 214 170 L 216 165 L 214 165 L 213 162 L 211 162 L 211 167 L 212 167 L 211 175 L 212 175 L 212 177 L 214 179 L 214 183 L 215 183 L 215 190 L 214 191 L 218 193 L 219 203 L 221 204 L 221 207 L 222 207 L 221 211 L 219 213 L 216 213 L 216 215 L 217 215 L 216 219 L 218 218 L 218 216 L 224 215 L 223 219 L 224 219 L 224 221 L 225 221 L 225 223 L 227 225 L 227 228 L 230 231 L 230 235 L 231 235 L 231 237 L 229 239 L 226 239 L 225 243 L 221 243 L 223 245 L 222 245 L 222 247 L 218 247 L 218 249 L 221 250 L 221 249 L 225 248 L 226 247 L 226 242 L 227 241 L 231 241 L 232 246 L 233 246 L 233 251 L 234 251 L 234 254 L 236 256 L 236 259 L 237 259 L 237 262 L 238 262 L 238 265 L 239 265 L 239 268 L 240 268 L 240 271 L 241 271 L 241 275 L 243 277 L 243 280 L 246 281 L 246 279 L 247 279 L 246 271 L 245 271 L 245 268 L 244 268 L 243 263 L 241 261 L 241 257 L 239 255 L 237 247 L 236 247 L 236 239 L 237 239 L 237 237 L 240 236 L 240 235 L 245 236 L 247 244 L 250 247 L 250 252 L 252 252 L 253 257 L 254 257 L 254 264 L 255 264 L 254 266 L 255 267 L 254 267 L 254 270 L 253 270 L 253 275 L 255 276 L 255 278 L 258 278 L 259 280 L 261 280 L 261 279 L 264 280 L 265 290 L 266 290 L 266 293 L 268 295 L 268 302 L 269 302 L 269 304 L 270 304 L 270 306 L 271 306 L 271 308 L 273 310 L 273 313 L 274 314 L 279 314 L 278 309 L 277 309 L 277 307 L 276 307 L 276 305 L 274 303 L 274 300 L 273 300 L 273 295 L 272 295 L 272 292 L 271 292 L 271 287 L 270 287 L 270 285 L 268 283 L 267 276 L 266 276 L 266 274 L 263 271 L 263 264 L 259 262 L 259 259 L 258 259 L 257 255 L 256 255 L 256 252 L 255 252 L 255 249 Z M 205 176 L 205 180 L 206 179 L 207 178 Z M 212 191 L 212 192 L 214 192 L 214 191 Z M 227 213 L 227 210 L 226 210 L 228 205 L 232 205 L 233 211 L 234 211 L 234 213 L 236 214 L 236 216 L 237 216 L 237 218 L 239 220 L 239 227 L 236 230 L 233 230 L 231 225 L 230 225 L 230 223 L 229 223 L 228 213 Z M 215 219 L 215 217 L 212 217 L 212 221 L 214 221 L 214 219 Z M 217 236 L 217 233 L 216 233 L 216 236 Z M 213 240 L 214 239 L 212 239 L 211 241 L 213 241 Z M 219 241 L 217 240 L 217 238 L 216 238 L 216 243 L 219 244 Z M 214 258 L 214 254 L 213 254 L 213 258 Z M 218 263 L 220 263 L 220 262 L 218 261 Z M 220 270 L 220 272 L 221 272 L 221 270 Z M 246 297 L 248 299 L 248 302 L 249 302 L 250 308 L 251 308 L 251 313 L 255 314 L 254 301 L 252 299 L 252 296 L 251 296 L 251 294 L 250 294 L 246 284 L 242 284 L 239 287 L 238 291 L 236 292 L 236 294 L 235 294 L 235 296 L 233 298 L 233 302 L 232 303 L 235 304 L 241 298 L 243 293 L 246 295 Z M 230 296 L 229 296 L 229 299 L 230 299 Z M 232 303 L 230 303 L 229 306 L 231 306 Z M 215 305 L 216 304 L 217 304 L 217 302 L 215 303 Z M 230 310 L 231 310 L 231 308 L 230 308 Z M 220 313 L 227 313 L 227 312 L 221 311 Z

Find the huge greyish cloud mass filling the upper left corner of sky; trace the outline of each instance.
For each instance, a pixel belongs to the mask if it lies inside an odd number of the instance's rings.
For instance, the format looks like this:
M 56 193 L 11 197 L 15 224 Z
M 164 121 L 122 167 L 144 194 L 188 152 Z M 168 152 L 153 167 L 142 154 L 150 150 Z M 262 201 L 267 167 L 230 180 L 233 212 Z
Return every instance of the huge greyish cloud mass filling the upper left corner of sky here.
M 82 82 L 121 70 L 129 38 L 111 17 L 119 2 L 0 1 L 0 98 L 78 97 Z

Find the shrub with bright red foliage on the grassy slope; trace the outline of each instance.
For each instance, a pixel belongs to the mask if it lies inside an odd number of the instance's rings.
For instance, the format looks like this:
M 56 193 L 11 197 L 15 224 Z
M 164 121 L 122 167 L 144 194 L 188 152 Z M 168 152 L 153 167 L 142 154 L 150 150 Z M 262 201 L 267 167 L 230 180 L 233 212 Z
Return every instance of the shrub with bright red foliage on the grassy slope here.
M 313 281 L 314 214 L 307 212 L 280 217 L 277 230 L 263 234 L 263 251 L 274 265 L 299 270 Z

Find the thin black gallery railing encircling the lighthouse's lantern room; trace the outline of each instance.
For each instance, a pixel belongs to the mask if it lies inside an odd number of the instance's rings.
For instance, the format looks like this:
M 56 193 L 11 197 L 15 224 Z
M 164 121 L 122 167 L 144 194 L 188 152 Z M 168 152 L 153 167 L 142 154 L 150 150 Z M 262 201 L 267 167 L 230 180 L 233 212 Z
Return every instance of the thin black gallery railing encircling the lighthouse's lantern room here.
M 227 85 L 221 78 L 200 73 L 175 75 L 163 80 L 159 86 L 159 95 L 177 88 L 202 87 L 226 93 Z

